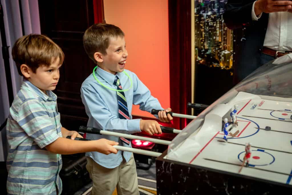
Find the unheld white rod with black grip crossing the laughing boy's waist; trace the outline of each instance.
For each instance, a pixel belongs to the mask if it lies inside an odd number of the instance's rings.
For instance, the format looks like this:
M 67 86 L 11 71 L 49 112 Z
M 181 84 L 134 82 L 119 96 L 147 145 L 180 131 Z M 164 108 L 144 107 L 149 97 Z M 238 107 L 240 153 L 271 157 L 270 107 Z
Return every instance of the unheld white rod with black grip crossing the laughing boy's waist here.
M 101 129 L 97 129 L 94 127 L 85 127 L 80 126 L 79 131 L 84 133 L 92 133 L 92 134 L 102 134 L 102 135 L 112 135 L 117 137 L 125 137 L 128 139 L 139 139 L 143 141 L 151 141 L 156 144 L 163 144 L 163 145 L 169 145 L 171 141 L 161 140 L 161 139 L 154 139 L 150 137 L 142 137 L 142 136 L 136 136 L 136 135 L 130 135 L 130 134 L 124 134 L 124 133 L 117 133 L 117 132 L 111 132 L 111 131 L 104 131 Z

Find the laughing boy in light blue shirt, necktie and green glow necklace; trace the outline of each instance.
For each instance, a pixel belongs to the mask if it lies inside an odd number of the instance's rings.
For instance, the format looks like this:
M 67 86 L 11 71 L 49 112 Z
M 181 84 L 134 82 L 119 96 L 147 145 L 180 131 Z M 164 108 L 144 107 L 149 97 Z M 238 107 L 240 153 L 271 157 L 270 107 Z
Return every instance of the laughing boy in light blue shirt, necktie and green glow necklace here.
M 161 134 L 157 121 L 132 119 L 133 104 L 140 105 L 140 110 L 148 112 L 153 108 L 163 108 L 137 75 L 125 69 L 128 52 L 124 32 L 111 24 L 94 24 L 86 30 L 83 44 L 89 58 L 97 64 L 81 86 L 82 102 L 89 117 L 87 125 L 127 134 L 141 131 L 150 135 Z M 172 120 L 170 114 L 166 115 L 170 111 L 171 108 L 160 111 L 159 120 Z M 111 139 L 131 147 L 131 141 L 119 137 L 96 134 L 87 134 L 86 137 Z M 117 154 L 105 156 L 88 152 L 86 156 L 86 168 L 93 180 L 91 194 L 111 195 L 115 188 L 118 194 L 139 194 L 133 153 L 118 151 Z

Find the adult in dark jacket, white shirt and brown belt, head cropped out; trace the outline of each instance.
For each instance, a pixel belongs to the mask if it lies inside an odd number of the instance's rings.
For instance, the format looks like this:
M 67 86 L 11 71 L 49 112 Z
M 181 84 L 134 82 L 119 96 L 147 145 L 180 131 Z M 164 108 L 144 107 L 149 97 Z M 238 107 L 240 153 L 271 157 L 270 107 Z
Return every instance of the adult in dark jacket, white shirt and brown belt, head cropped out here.
M 287 33 L 292 32 L 292 1 L 228 0 L 223 18 L 234 34 L 244 30 L 244 36 L 234 44 L 234 48 L 238 46 L 233 56 L 234 84 L 292 51 L 292 39 L 286 41 Z

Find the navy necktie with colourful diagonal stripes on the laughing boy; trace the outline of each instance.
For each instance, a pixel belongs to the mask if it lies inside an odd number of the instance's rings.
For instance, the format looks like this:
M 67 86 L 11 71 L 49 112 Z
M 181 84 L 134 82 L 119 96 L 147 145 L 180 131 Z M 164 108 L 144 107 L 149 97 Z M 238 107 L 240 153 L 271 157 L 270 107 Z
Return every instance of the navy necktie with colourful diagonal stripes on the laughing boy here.
M 116 75 L 114 79 L 114 85 L 117 86 L 118 90 L 123 89 L 119 80 L 119 77 Z M 126 96 L 124 92 L 118 92 L 117 91 L 117 97 L 118 97 L 118 104 L 119 104 L 119 118 L 120 119 L 130 119 L 129 117 L 129 111 L 127 107 L 127 101 L 126 101 Z M 127 139 L 124 137 L 120 137 L 120 139 L 125 143 L 126 145 L 130 145 L 131 139 Z

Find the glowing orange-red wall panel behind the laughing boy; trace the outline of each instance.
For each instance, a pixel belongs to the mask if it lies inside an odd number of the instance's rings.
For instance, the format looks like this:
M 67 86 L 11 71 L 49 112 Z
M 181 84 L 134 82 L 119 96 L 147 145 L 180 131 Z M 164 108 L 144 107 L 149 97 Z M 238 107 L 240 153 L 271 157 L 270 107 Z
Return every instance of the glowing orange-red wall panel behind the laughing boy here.
M 104 0 L 105 21 L 125 33 L 128 59 L 133 71 L 163 108 L 170 107 L 169 40 L 167 0 Z M 132 115 L 153 117 L 133 106 Z

